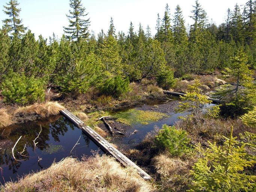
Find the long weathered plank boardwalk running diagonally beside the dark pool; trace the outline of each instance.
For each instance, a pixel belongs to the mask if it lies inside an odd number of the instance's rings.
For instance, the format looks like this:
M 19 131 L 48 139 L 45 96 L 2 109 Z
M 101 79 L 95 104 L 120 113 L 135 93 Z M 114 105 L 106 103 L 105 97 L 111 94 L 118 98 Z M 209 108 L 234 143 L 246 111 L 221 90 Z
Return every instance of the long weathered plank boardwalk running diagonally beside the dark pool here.
M 114 148 L 108 141 L 106 141 L 102 136 L 100 136 L 95 130 L 91 127 L 86 126 L 82 120 L 73 115 L 68 110 L 62 110 L 60 113 L 68 118 L 72 123 L 74 123 L 77 127 L 82 129 L 82 131 L 90 138 L 102 151 L 116 158 L 117 161 L 122 163 L 125 167 L 132 166 L 137 172 L 143 177 L 145 180 L 151 179 L 151 177 L 143 171 L 139 166 L 137 166 L 134 162 L 132 162 L 128 157 L 122 154 L 119 150 Z

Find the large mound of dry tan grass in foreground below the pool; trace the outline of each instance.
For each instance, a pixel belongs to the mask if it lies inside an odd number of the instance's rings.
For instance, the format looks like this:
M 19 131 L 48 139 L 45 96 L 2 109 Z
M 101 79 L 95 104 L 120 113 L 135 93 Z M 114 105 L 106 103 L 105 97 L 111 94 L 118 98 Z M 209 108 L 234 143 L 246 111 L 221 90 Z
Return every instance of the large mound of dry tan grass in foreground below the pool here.
M 18 191 L 92 191 L 149 192 L 151 184 L 133 168 L 122 168 L 112 157 L 96 155 L 79 162 L 66 158 L 50 168 L 30 174 L 17 183 L 2 187 L 6 192 Z

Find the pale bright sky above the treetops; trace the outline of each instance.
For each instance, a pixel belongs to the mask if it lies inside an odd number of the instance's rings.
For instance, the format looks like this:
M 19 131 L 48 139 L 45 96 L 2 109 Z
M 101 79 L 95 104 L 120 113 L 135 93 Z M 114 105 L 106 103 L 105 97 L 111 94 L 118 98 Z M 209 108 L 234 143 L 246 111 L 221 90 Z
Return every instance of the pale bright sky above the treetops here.
M 217 24 L 224 22 L 227 9 L 234 9 L 236 3 L 244 5 L 248 0 L 199 0 L 202 8 L 206 11 L 208 20 Z M 3 5 L 9 0 L 0 0 L 0 21 L 7 18 L 3 12 Z M 23 19 L 24 26 L 28 27 L 37 38 L 40 34 L 48 38 L 53 32 L 61 37 L 63 26 L 68 26 L 69 0 L 18 0 L 21 8 L 20 18 Z M 128 32 L 130 22 L 134 29 L 139 29 L 139 23 L 146 31 L 147 25 L 151 28 L 151 33 L 155 34 L 157 13 L 163 18 L 166 3 L 170 7 L 171 17 L 174 15 L 175 7 L 180 5 L 186 26 L 193 24 L 189 17 L 192 15 L 192 5 L 194 0 L 81 0 L 83 6 L 88 12 L 90 18 L 90 31 L 95 35 L 104 30 L 107 32 L 110 24 L 110 18 L 117 31 Z M 242 8 L 241 8 L 242 10 Z

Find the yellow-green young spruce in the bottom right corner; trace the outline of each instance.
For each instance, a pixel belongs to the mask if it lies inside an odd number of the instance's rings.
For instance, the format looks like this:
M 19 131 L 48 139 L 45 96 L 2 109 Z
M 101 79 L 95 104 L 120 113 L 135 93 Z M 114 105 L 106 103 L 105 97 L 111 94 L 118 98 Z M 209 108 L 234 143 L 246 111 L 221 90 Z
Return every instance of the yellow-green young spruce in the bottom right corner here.
M 239 143 L 232 132 L 233 127 L 229 138 L 224 137 L 223 146 L 208 141 L 207 149 L 196 147 L 201 157 L 192 167 L 193 180 L 188 192 L 255 191 L 256 176 L 245 171 L 255 161 L 247 158 L 246 144 Z

